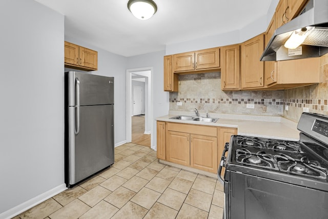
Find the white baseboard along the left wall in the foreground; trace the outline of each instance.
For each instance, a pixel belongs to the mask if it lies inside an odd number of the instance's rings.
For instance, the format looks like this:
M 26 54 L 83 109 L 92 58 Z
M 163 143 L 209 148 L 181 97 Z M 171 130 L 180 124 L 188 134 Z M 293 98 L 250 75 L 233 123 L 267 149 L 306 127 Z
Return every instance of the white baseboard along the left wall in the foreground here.
M 13 207 L 12 209 L 9 209 L 8 211 L 5 211 L 0 214 L 0 219 L 9 219 L 12 218 L 44 201 L 47 199 L 55 196 L 56 194 L 59 194 L 60 192 L 66 190 L 66 184 L 61 184 L 53 189 L 50 189 L 49 191 L 46 191 L 45 193 L 42 193 L 34 198 L 31 198 L 30 200 L 17 205 L 16 207 Z

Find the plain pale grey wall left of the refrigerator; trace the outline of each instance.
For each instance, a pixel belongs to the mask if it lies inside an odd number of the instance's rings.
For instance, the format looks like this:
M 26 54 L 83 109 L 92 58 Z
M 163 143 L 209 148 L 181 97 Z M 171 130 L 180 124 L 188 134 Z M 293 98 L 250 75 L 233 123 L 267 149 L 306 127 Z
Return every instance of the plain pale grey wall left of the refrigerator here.
M 2 218 L 64 186 L 64 16 L 32 0 L 2 0 L 0 27 Z

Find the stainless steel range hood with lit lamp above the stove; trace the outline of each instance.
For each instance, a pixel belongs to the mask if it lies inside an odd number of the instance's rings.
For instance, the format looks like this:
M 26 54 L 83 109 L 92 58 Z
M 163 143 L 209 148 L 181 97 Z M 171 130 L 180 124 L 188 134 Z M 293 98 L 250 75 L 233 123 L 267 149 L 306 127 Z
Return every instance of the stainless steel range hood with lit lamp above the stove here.
M 314 29 L 297 49 L 284 47 L 294 30 L 312 26 Z M 328 1 L 310 0 L 300 15 L 275 30 L 260 61 L 282 61 L 319 57 L 328 53 Z

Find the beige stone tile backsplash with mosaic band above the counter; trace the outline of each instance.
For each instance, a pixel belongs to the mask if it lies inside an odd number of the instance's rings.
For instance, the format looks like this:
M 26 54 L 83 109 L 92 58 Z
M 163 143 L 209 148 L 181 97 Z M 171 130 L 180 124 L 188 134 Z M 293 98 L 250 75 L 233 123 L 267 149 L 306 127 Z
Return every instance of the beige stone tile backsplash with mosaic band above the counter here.
M 178 106 L 177 103 L 181 103 Z M 222 91 L 221 73 L 179 75 L 179 92 L 170 93 L 170 110 L 276 115 L 298 122 L 303 107 L 328 114 L 328 83 L 276 91 Z M 254 108 L 247 108 L 254 104 Z M 284 106 L 288 106 L 285 110 Z

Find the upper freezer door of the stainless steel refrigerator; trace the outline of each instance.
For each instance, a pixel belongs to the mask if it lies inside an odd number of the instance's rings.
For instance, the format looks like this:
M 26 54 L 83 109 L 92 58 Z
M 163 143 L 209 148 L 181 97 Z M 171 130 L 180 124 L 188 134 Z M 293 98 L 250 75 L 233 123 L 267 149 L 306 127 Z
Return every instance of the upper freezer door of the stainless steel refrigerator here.
M 114 104 L 114 77 L 69 71 L 68 80 L 69 106 Z

